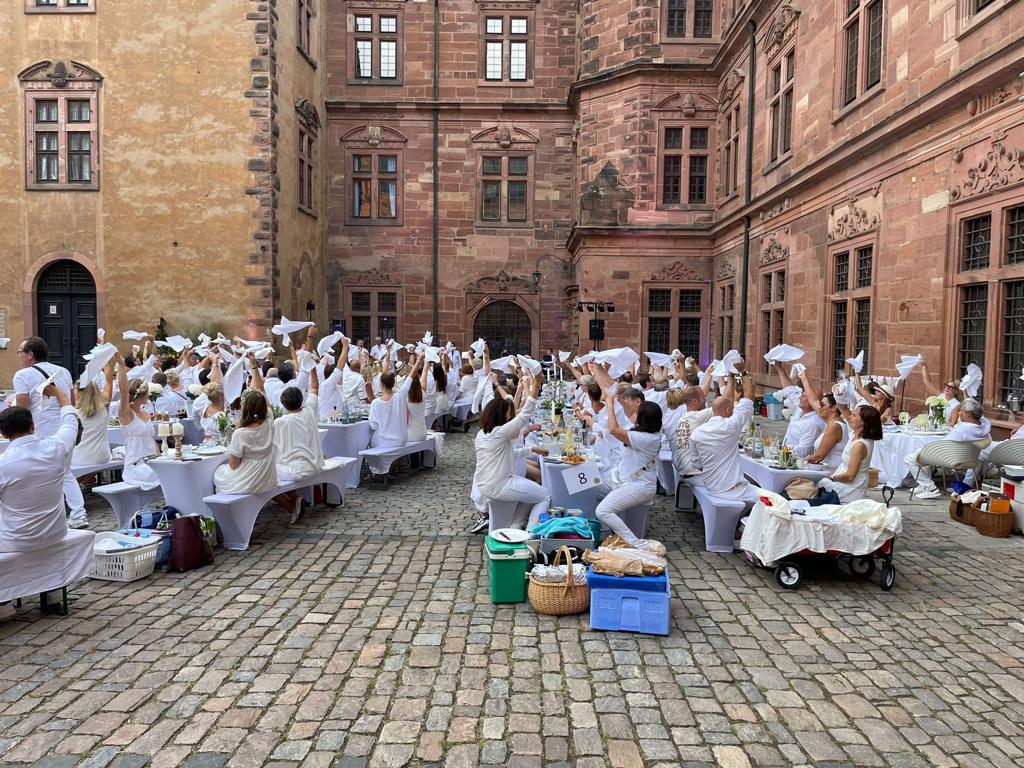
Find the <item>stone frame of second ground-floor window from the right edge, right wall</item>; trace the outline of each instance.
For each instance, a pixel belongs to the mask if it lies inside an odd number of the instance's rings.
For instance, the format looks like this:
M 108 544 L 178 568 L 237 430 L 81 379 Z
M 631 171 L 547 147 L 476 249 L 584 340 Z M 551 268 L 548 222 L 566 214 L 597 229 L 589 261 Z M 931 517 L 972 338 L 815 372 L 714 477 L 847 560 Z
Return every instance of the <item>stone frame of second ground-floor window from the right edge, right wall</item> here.
M 871 275 L 869 283 L 866 286 L 861 286 L 859 280 L 855 280 L 857 273 L 857 254 L 865 249 L 871 249 Z M 845 290 L 838 290 L 836 285 L 837 280 L 837 257 L 841 254 L 847 254 L 847 288 Z M 838 362 L 840 357 L 837 354 L 836 342 L 835 342 L 835 325 L 836 325 L 836 306 L 838 304 L 843 304 L 846 311 L 846 328 L 844 329 L 844 349 L 842 354 L 842 359 L 846 360 L 847 357 L 853 357 L 857 354 L 859 349 L 864 350 L 864 371 L 863 373 L 868 373 L 870 370 L 870 361 L 872 358 L 872 343 L 874 340 L 874 334 L 872 333 L 873 323 L 868 321 L 867 329 L 867 343 L 863 345 L 857 344 L 857 308 L 858 302 L 867 300 L 870 302 L 869 315 L 873 313 L 878 308 L 877 303 L 877 293 L 878 293 L 878 274 L 879 274 L 879 233 L 878 230 L 861 234 L 856 238 L 849 238 L 848 240 L 841 241 L 839 243 L 833 243 L 828 246 L 826 252 L 826 262 L 825 262 L 825 286 L 824 286 L 824 311 L 822 311 L 822 316 L 825 318 L 825 327 L 822 329 L 822 338 L 825 340 L 825 353 L 822 355 L 821 360 L 821 374 L 824 379 L 830 380 L 836 375 L 836 370 L 829 368 L 834 364 Z M 854 349 L 853 347 L 858 347 Z M 852 351 L 851 351 L 852 350 Z M 846 368 L 845 364 L 842 366 L 843 369 Z

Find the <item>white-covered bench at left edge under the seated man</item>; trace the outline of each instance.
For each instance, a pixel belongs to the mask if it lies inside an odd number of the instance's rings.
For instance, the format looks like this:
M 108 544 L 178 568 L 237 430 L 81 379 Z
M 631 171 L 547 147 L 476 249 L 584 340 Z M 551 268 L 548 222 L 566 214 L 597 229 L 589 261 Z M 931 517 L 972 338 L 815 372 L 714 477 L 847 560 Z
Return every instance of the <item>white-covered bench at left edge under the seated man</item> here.
M 91 530 L 69 530 L 63 539 L 32 552 L 0 553 L 0 603 L 39 595 L 47 611 L 46 593 L 61 591 L 59 612 L 68 615 L 68 586 L 92 570 Z

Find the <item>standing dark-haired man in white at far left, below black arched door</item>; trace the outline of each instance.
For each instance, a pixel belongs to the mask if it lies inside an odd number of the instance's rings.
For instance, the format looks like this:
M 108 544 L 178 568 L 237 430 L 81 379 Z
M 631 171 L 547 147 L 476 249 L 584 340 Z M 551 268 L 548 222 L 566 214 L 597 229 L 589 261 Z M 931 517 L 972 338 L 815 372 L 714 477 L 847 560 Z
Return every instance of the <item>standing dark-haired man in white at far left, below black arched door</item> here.
M 56 374 L 53 383 L 57 389 L 68 395 L 69 399 L 74 387 L 71 372 L 48 362 L 49 355 L 49 347 L 38 336 L 30 336 L 17 348 L 22 370 L 14 374 L 14 404 L 32 412 L 35 431 L 40 437 L 52 437 L 57 433 L 61 424 L 61 415 L 60 406 L 57 404 L 56 399 L 41 395 L 39 385 Z M 76 436 L 77 434 L 76 428 Z M 68 500 L 68 506 L 71 508 L 69 524 L 75 528 L 88 527 L 82 488 L 78 484 L 78 478 L 72 474 L 70 468 L 65 473 L 63 493 Z

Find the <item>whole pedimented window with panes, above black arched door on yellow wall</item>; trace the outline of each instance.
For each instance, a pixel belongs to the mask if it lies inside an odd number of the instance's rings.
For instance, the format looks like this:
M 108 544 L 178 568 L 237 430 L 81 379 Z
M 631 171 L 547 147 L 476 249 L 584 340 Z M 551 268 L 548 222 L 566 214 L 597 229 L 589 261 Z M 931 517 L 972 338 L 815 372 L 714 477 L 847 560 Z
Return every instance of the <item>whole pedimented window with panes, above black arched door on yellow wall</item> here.
M 99 188 L 99 84 L 78 61 L 40 61 L 18 75 L 25 92 L 29 189 Z

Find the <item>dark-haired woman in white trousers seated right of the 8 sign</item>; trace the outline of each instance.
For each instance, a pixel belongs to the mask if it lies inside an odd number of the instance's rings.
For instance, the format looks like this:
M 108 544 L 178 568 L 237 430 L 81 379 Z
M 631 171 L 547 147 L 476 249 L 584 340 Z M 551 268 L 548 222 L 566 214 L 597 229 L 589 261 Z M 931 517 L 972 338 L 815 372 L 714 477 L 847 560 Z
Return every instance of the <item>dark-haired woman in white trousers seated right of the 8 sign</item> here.
M 605 393 L 608 431 L 623 443 L 618 464 L 598 486 L 597 519 L 611 528 L 631 547 L 644 549 L 646 540 L 638 538 L 618 516 L 633 507 L 648 504 L 657 493 L 655 465 L 662 450 L 662 409 L 656 402 L 641 402 L 636 424 L 625 424 L 615 415 L 616 395 Z

